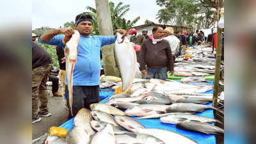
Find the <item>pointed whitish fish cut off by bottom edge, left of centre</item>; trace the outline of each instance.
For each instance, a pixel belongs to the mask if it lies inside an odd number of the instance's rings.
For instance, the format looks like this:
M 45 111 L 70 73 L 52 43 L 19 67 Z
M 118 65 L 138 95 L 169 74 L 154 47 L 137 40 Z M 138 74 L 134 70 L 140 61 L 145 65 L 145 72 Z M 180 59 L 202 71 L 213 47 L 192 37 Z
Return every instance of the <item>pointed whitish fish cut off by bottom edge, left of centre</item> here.
M 116 144 L 113 127 L 110 124 L 93 136 L 91 144 L 100 143 Z

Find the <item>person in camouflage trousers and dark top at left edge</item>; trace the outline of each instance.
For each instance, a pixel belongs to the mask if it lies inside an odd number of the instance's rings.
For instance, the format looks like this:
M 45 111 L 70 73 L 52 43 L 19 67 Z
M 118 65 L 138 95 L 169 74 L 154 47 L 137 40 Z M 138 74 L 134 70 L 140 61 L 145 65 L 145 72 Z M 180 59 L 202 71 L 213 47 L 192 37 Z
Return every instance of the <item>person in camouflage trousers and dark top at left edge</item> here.
M 32 44 L 32 123 L 39 122 L 39 116 L 51 116 L 47 108 L 47 76 L 52 70 L 50 54 L 35 42 Z M 38 100 L 41 102 L 38 112 Z M 39 115 L 39 116 L 38 116 Z

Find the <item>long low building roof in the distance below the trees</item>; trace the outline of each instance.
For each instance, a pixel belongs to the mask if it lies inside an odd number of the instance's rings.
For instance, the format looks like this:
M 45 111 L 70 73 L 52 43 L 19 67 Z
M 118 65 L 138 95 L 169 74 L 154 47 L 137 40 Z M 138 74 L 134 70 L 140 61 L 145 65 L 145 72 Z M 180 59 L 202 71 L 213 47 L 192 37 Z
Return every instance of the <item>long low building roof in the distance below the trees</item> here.
M 189 28 L 189 27 L 186 27 L 186 26 L 172 26 L 172 25 L 155 24 L 155 23 L 143 24 L 143 25 L 140 25 L 140 26 L 134 26 L 133 28 L 136 29 L 136 31 L 139 34 L 142 34 L 142 29 L 147 29 L 148 30 L 148 35 L 150 35 L 152 33 L 152 29 L 156 26 L 161 26 L 161 27 L 164 27 L 164 28 L 172 27 L 174 29 L 174 31 L 180 31 L 181 33 L 184 30 L 188 31 L 188 33 L 193 31 L 193 28 Z M 125 30 L 129 30 L 129 29 L 125 29 Z

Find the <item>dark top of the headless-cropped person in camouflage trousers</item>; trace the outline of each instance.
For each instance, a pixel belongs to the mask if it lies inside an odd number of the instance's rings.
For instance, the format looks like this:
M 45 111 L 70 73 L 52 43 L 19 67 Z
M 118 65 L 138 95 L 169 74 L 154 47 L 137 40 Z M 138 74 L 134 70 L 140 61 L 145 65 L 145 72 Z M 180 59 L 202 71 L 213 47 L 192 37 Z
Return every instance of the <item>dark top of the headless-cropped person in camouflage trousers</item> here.
M 31 41 L 32 45 L 32 69 L 49 65 L 52 62 L 50 54 L 40 45 Z

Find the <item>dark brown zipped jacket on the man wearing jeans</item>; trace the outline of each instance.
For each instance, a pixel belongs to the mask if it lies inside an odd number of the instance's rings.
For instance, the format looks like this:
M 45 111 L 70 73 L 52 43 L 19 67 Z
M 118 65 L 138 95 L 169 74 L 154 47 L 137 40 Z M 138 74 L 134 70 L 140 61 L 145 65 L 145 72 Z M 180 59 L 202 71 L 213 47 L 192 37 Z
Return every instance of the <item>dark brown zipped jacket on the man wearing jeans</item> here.
M 140 69 L 148 68 L 164 68 L 173 71 L 173 57 L 170 44 L 167 40 L 152 44 L 152 40 L 148 39 L 143 42 L 140 50 Z

